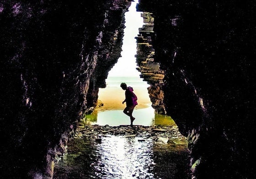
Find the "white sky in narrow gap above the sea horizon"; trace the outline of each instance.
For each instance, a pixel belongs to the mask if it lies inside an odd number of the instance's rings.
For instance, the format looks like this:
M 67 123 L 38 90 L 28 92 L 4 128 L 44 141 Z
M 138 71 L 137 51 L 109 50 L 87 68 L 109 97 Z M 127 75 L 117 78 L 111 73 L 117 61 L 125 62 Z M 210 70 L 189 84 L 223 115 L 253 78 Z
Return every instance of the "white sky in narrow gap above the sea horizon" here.
M 143 18 L 140 16 L 142 12 L 136 11 L 138 0 L 134 0 L 129 7 L 129 11 L 125 13 L 125 29 L 123 37 L 123 51 L 121 56 L 112 70 L 108 73 L 109 77 L 131 77 L 138 76 L 140 72 L 136 70 L 136 39 L 139 28 L 143 26 Z

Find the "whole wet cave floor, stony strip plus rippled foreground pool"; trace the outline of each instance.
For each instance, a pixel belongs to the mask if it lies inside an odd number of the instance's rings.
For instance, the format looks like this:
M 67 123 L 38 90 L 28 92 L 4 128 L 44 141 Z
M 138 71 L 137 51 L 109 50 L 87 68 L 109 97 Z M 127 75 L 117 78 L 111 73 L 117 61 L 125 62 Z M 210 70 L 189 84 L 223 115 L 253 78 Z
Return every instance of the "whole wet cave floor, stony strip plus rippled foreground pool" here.
M 53 179 L 189 179 L 187 138 L 176 125 L 80 123 Z

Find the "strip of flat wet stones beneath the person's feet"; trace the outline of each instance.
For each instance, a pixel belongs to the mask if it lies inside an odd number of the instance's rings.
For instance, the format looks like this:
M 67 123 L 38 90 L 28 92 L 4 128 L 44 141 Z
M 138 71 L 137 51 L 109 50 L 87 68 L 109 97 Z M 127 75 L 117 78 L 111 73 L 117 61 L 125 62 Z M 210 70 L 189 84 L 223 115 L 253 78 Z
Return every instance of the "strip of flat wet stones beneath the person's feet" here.
M 120 125 L 120 126 L 100 126 L 78 124 L 74 138 L 95 138 L 98 143 L 102 137 L 122 136 L 123 138 L 138 137 L 138 141 L 145 141 L 149 137 L 155 137 L 155 140 L 161 140 L 163 143 L 171 143 L 174 140 L 187 141 L 182 136 L 177 126 L 142 126 L 142 125 Z M 160 139 L 159 139 L 160 138 Z M 168 140 L 167 140 L 168 139 Z M 177 143 L 177 142 L 176 142 Z M 182 142 L 183 144 L 184 142 Z

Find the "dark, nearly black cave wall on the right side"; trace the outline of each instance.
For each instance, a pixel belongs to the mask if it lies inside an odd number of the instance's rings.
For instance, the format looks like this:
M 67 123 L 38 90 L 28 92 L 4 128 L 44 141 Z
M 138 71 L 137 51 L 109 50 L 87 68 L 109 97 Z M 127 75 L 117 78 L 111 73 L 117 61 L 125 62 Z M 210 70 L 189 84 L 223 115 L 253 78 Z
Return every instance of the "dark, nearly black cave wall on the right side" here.
M 140 0 L 153 13 L 167 114 L 188 136 L 192 177 L 256 178 L 254 1 Z

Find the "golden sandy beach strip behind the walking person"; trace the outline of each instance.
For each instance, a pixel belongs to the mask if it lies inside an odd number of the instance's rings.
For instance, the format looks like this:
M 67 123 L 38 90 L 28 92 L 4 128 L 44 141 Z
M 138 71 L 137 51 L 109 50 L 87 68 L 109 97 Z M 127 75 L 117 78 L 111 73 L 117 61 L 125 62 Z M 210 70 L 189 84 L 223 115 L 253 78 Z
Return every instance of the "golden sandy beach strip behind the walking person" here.
M 122 104 L 125 99 L 124 90 L 121 87 L 101 88 L 98 99 L 103 102 L 103 106 L 97 108 L 97 111 L 120 110 L 126 107 Z M 138 105 L 134 109 L 143 109 L 151 106 L 149 94 L 146 88 L 133 87 L 133 92 L 138 97 Z

